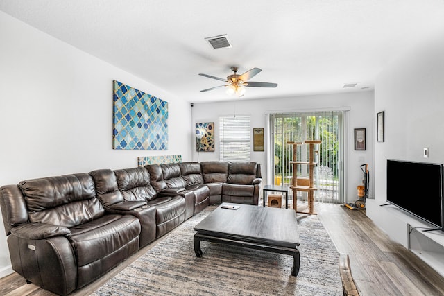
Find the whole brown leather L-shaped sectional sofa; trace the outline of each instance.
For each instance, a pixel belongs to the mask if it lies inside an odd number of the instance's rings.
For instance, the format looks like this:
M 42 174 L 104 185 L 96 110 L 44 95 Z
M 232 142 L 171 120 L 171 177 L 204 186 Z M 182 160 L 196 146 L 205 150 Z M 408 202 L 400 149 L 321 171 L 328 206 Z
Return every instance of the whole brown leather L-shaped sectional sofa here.
M 255 162 L 185 162 L 1 186 L 12 269 L 67 295 L 208 204 L 257 205 L 261 177 Z

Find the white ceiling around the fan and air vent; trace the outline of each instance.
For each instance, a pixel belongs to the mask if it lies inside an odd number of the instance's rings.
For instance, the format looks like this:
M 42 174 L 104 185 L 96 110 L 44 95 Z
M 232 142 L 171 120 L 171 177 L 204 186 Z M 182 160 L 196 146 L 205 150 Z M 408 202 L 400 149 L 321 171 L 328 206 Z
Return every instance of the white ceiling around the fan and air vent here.
M 223 82 L 198 76 L 231 66 L 278 83 L 242 99 L 373 89 L 388 62 L 444 34 L 444 0 L 0 0 L 0 10 L 194 103 L 233 99 L 200 93 Z M 204 39 L 222 34 L 232 48 Z

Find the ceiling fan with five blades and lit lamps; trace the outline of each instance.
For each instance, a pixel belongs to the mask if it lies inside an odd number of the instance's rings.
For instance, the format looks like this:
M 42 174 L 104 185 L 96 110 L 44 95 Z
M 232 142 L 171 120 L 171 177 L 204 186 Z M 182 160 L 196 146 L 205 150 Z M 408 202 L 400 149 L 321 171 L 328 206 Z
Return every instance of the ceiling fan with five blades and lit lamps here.
M 278 86 L 278 83 L 248 81 L 250 78 L 253 78 L 253 76 L 256 76 L 260 71 L 262 71 L 262 69 L 259 69 L 259 68 L 250 69 L 241 75 L 237 74 L 237 67 L 231 67 L 231 71 L 233 71 L 234 74 L 227 76 L 226 79 L 214 77 L 214 76 L 203 74 L 203 73 L 199 73 L 200 76 L 205 76 L 208 78 L 221 80 L 221 81 L 227 83 L 226 85 L 219 85 L 217 87 L 203 89 L 200 92 L 208 92 L 209 90 L 216 89 L 219 87 L 227 87 L 227 94 L 229 94 L 229 95 L 236 94 L 237 96 L 244 96 L 245 87 L 277 87 Z

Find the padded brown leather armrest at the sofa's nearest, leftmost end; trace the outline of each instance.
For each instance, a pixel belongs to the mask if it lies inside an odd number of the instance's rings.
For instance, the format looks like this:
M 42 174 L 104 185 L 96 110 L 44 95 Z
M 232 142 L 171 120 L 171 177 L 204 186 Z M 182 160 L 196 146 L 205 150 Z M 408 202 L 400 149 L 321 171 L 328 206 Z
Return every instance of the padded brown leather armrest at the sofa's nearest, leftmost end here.
M 68 236 L 71 230 L 64 226 L 44 223 L 23 224 L 11 229 L 11 234 L 24 239 L 45 239 L 53 236 Z

